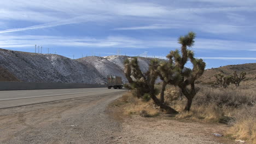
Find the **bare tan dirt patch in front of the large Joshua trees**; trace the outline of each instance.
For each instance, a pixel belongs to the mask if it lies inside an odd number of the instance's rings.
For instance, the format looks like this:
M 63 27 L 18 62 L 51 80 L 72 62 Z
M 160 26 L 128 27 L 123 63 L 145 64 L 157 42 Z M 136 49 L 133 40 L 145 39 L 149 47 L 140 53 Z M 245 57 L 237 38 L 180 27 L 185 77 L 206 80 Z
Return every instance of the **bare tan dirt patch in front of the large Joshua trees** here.
M 177 120 L 168 115 L 141 117 L 124 115 L 122 108 L 109 106 L 110 116 L 121 123 L 119 139 L 114 143 L 238 143 L 225 137 L 228 125 Z

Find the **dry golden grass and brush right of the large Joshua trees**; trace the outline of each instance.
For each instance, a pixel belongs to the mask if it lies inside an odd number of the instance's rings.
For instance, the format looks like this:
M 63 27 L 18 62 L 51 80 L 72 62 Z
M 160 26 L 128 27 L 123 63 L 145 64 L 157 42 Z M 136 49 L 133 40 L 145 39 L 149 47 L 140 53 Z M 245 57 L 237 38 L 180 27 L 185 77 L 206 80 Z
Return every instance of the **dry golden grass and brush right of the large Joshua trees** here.
M 172 107 L 180 113 L 178 119 L 203 122 L 223 122 L 231 127 L 226 135 L 256 143 L 255 89 L 230 87 L 211 88 L 200 86 L 189 112 L 184 112 L 185 100 L 174 100 Z

